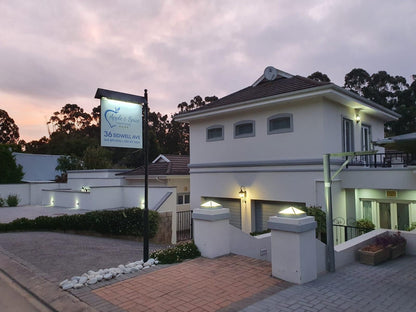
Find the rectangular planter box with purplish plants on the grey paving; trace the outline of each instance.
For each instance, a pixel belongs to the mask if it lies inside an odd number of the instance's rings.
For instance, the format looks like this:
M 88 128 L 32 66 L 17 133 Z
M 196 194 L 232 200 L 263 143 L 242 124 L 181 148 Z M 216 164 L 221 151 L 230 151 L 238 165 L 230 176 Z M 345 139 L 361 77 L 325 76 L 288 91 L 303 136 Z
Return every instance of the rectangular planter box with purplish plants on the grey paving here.
M 376 236 L 374 242 L 358 250 L 360 263 L 377 265 L 395 259 L 406 251 L 406 239 L 400 232 L 389 232 Z

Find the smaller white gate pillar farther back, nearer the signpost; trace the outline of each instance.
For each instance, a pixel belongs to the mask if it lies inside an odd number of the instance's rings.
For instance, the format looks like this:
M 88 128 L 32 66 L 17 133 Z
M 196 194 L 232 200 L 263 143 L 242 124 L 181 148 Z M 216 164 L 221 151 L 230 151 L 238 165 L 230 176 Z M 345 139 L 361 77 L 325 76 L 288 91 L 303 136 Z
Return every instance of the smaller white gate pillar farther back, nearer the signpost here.
M 194 209 L 194 241 L 201 255 L 215 258 L 230 253 L 228 208 Z

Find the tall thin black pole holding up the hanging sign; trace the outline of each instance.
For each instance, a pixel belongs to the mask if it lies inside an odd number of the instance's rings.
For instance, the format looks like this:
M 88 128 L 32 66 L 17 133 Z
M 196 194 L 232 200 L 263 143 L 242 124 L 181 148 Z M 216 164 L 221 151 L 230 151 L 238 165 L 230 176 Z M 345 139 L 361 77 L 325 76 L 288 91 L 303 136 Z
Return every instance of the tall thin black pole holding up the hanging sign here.
M 147 89 L 144 90 L 144 124 L 143 124 L 143 150 L 144 150 L 144 214 L 143 214 L 143 261 L 149 260 L 149 139 L 148 139 L 148 102 L 147 102 Z

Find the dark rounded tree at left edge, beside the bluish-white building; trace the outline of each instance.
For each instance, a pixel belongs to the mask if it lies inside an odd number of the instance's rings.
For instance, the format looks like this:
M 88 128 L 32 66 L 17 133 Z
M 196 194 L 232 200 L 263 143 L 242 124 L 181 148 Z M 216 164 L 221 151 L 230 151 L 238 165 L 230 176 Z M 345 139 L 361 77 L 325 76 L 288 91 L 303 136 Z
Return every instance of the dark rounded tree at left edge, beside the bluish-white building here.
M 23 167 L 16 164 L 11 149 L 0 145 L 0 184 L 19 183 L 23 176 Z

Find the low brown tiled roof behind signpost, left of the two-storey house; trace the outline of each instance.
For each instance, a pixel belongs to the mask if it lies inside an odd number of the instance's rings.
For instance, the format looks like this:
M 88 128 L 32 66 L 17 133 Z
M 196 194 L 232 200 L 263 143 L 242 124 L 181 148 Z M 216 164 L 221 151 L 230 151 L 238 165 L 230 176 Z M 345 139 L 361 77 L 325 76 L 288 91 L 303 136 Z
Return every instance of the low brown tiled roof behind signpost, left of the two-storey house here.
M 159 155 L 148 165 L 149 175 L 189 175 L 188 155 Z M 143 176 L 144 166 L 120 173 L 123 176 Z

